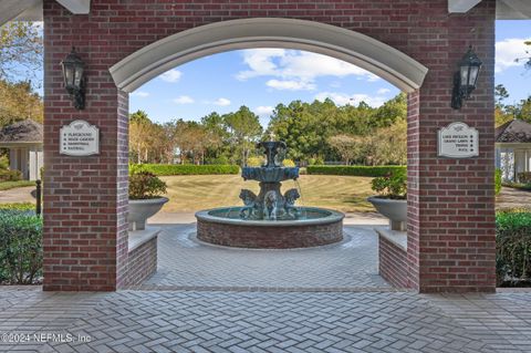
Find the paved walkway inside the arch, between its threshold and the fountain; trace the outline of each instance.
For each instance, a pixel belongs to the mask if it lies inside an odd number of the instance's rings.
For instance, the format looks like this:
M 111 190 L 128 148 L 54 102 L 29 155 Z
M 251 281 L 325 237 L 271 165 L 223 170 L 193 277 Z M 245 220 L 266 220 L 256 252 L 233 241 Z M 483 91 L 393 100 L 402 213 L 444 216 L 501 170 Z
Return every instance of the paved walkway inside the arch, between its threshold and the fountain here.
M 195 239 L 195 225 L 165 227 L 157 272 L 137 289 L 392 290 L 378 276 L 372 228 L 344 228 L 336 245 L 289 250 L 217 247 Z

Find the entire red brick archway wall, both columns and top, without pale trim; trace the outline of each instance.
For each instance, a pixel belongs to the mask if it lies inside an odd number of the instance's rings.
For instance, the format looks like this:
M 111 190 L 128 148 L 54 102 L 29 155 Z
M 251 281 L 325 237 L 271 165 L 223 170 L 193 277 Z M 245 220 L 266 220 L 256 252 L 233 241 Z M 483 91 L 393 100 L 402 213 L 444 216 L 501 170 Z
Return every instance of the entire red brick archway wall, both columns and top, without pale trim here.
M 319 21 L 371 35 L 429 69 L 409 95 L 410 281 L 420 291 L 492 291 L 494 1 L 448 14 L 447 0 L 93 0 L 88 15 L 44 1 L 46 176 L 44 289 L 113 290 L 126 284 L 127 96 L 108 68 L 156 40 L 194 27 L 249 17 Z M 449 107 L 451 74 L 472 44 L 485 62 L 461 111 Z M 75 45 L 87 63 L 87 107 L 73 110 L 59 62 Z M 102 154 L 70 158 L 59 128 L 84 118 L 102 129 Z M 437 158 L 436 131 L 464 121 L 480 132 L 480 156 Z

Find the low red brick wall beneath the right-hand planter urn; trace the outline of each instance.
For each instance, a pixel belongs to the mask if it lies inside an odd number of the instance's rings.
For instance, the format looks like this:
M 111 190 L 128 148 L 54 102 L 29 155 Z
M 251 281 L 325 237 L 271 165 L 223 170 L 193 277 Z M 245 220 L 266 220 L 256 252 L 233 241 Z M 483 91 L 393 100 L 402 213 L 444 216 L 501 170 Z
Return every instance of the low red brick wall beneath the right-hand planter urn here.
M 378 240 L 379 276 L 398 288 L 410 288 L 407 253 L 404 249 L 379 236 Z

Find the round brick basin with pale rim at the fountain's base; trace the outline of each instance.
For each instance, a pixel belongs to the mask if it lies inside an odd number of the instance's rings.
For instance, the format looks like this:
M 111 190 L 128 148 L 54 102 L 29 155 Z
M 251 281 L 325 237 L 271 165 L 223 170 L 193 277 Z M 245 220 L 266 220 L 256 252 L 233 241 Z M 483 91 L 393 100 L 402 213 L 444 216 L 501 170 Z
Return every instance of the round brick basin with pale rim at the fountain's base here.
M 303 219 L 240 219 L 242 207 L 223 207 L 196 214 L 197 238 L 236 248 L 291 249 L 334 243 L 343 239 L 345 215 L 323 208 L 300 207 Z

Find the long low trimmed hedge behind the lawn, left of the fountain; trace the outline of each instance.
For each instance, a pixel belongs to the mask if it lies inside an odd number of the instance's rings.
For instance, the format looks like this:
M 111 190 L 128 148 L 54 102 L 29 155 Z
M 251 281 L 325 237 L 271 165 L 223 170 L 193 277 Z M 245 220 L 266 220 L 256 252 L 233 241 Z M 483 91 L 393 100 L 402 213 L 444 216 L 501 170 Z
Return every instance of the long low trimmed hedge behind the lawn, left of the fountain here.
M 150 172 L 157 176 L 169 175 L 209 175 L 209 174 L 238 174 L 240 167 L 233 165 L 192 165 L 192 164 L 143 164 L 142 170 Z

